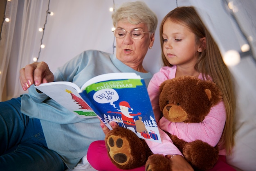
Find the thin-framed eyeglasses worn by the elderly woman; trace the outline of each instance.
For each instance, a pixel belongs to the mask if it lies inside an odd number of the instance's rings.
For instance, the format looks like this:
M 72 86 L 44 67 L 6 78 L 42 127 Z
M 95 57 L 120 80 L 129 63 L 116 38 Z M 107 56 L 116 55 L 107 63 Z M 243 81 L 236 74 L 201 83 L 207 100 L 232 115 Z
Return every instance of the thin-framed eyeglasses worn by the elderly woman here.
M 138 29 L 134 29 L 132 31 L 126 31 L 124 29 L 115 29 L 112 32 L 114 33 L 116 38 L 124 38 L 126 33 L 128 32 L 130 33 L 130 36 L 132 37 L 132 39 L 141 39 L 145 33 L 149 33 L 149 32 L 144 32 Z

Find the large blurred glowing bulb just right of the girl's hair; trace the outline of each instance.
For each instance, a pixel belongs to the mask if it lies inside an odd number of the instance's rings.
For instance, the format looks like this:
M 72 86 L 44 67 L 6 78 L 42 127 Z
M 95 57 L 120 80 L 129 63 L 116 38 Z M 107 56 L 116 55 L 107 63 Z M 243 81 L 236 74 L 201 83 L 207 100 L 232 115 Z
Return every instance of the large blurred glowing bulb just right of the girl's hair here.
M 223 61 L 227 66 L 235 66 L 240 62 L 240 54 L 236 50 L 228 50 L 223 56 Z

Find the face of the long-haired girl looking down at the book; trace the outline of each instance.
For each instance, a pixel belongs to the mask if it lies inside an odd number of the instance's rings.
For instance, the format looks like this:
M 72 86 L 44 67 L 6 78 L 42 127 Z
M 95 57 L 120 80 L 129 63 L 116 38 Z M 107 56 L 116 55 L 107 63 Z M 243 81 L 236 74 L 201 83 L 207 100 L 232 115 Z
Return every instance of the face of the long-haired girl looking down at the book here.
M 163 25 L 163 52 L 172 65 L 194 67 L 200 47 L 195 43 L 195 34 L 182 24 L 166 20 Z

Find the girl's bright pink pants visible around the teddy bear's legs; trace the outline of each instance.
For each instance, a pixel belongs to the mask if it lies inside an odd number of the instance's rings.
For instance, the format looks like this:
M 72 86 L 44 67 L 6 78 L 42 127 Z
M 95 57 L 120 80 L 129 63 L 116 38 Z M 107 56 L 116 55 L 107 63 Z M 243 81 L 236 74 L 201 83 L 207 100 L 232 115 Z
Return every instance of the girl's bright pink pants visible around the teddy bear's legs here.
M 90 144 L 87 152 L 87 160 L 98 171 L 124 171 L 118 169 L 108 158 L 108 151 L 104 140 L 94 141 Z M 226 162 L 225 156 L 219 156 L 213 169 L 209 171 L 236 171 Z M 145 166 L 131 169 L 130 171 L 145 171 Z

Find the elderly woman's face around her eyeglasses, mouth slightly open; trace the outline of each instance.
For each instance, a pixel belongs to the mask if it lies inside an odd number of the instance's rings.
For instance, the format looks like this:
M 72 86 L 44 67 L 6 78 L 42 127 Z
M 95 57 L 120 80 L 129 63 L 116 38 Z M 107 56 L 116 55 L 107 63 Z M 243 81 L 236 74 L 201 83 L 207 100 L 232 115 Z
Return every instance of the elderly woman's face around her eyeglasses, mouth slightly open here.
M 126 19 L 117 22 L 116 29 L 124 29 L 126 31 L 132 31 L 139 29 L 144 32 L 148 32 L 146 24 L 130 24 Z M 154 33 L 144 33 L 144 37 L 141 39 L 132 39 L 130 33 L 126 32 L 125 37 L 116 38 L 116 52 L 117 59 L 131 68 L 138 70 L 142 66 L 142 62 L 149 47 L 153 46 Z

